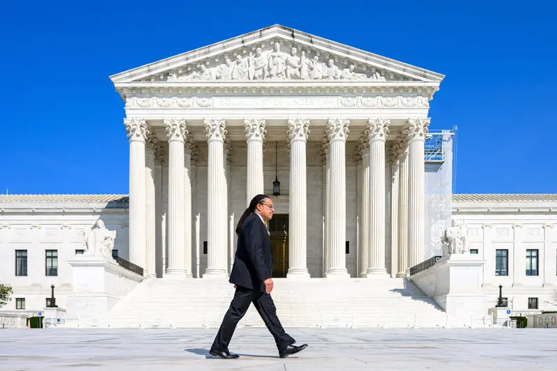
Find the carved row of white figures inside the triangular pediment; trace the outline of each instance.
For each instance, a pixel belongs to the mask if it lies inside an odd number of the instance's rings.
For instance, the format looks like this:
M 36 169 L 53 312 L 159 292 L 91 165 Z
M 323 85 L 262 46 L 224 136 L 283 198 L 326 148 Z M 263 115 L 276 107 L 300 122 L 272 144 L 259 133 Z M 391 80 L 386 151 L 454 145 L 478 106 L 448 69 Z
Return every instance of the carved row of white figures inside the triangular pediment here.
M 333 58 L 320 61 L 318 56 L 308 58 L 304 50 L 298 55 L 295 47 L 290 53 L 282 52 L 279 42 L 274 42 L 272 49 L 263 51 L 256 48 L 256 53 L 242 57 L 237 54 L 235 60 L 226 57 L 224 63 L 207 68 L 201 64 L 198 70 L 178 76 L 175 72 L 168 77 L 168 81 L 195 80 L 372 80 L 385 81 L 379 72 L 354 72 L 354 65 L 340 69 Z

